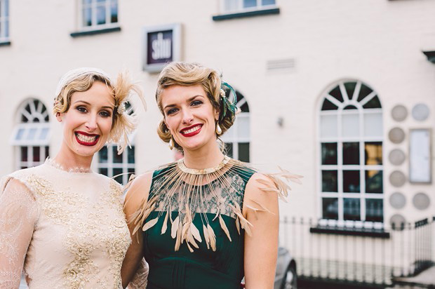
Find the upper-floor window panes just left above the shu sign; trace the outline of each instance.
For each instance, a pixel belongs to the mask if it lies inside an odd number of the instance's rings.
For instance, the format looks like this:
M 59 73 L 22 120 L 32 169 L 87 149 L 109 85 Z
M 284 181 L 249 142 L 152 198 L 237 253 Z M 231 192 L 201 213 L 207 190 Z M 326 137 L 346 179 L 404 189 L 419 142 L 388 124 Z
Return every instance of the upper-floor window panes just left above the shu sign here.
M 82 29 L 112 27 L 118 22 L 118 0 L 81 0 Z

